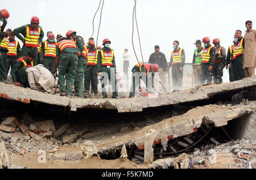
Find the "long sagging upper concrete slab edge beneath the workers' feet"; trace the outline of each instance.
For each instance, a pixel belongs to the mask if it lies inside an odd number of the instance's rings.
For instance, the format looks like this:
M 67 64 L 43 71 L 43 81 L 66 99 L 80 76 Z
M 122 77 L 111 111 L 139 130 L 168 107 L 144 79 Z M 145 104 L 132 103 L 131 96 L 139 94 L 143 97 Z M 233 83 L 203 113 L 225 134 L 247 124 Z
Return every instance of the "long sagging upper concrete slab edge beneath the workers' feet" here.
M 104 108 L 114 109 L 118 112 L 138 112 L 143 108 L 168 106 L 185 102 L 208 99 L 217 94 L 237 92 L 256 87 L 256 76 L 243 78 L 240 81 L 221 83 L 220 85 L 201 86 L 195 93 L 191 89 L 175 91 L 173 93 L 159 95 L 158 97 L 120 98 L 120 99 L 81 99 L 60 97 L 59 95 L 45 94 L 36 90 L 17 87 L 15 85 L 0 82 L 0 97 L 23 103 L 30 101 L 54 104 L 70 107 L 71 111 L 77 108 Z

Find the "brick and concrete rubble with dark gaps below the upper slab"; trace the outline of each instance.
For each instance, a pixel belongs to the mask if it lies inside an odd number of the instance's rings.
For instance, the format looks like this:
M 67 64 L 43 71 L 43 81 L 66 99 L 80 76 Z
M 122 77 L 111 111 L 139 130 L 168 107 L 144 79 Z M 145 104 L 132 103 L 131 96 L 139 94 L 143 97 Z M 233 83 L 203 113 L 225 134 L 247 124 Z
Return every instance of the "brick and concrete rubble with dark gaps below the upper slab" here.
M 68 115 L 63 108 L 31 106 L 5 103 L 0 110 L 0 142 L 5 143 L 10 168 L 256 167 L 254 101 L 174 106 L 134 114 L 88 110 Z M 246 136 L 230 141 L 220 126 L 246 115 L 251 115 Z M 210 130 L 204 123 L 214 127 Z M 200 143 L 179 152 L 208 130 Z M 148 132 L 155 132 L 154 156 L 144 164 Z M 120 158 L 123 144 L 127 158 Z

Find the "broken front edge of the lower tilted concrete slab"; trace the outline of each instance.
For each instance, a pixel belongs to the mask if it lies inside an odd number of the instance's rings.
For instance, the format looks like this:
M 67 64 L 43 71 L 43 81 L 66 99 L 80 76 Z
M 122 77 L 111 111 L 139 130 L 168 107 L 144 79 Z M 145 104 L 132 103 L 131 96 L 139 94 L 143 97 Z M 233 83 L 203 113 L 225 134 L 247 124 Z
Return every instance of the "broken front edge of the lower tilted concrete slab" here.
M 248 106 L 245 106 L 245 107 L 238 106 L 233 109 L 228 109 L 228 111 L 225 111 L 225 112 L 204 115 L 195 119 L 189 119 L 187 120 L 187 122 L 173 124 L 170 127 L 155 129 L 157 131 L 157 135 L 152 145 L 161 143 L 163 145 L 163 148 L 165 149 L 167 147 L 168 140 L 175 139 L 176 137 L 185 136 L 193 132 L 196 132 L 197 128 L 199 128 L 204 123 L 213 124 L 215 127 L 220 127 L 228 124 L 229 120 L 239 118 L 246 114 L 250 114 L 254 110 L 256 110 L 255 104 L 254 105 L 249 104 Z M 168 119 L 171 120 L 172 118 L 168 118 Z M 144 128 L 148 128 L 148 127 L 144 127 Z M 144 128 L 138 131 L 142 131 Z M 180 131 L 180 129 L 182 129 L 182 131 Z M 112 152 L 113 150 L 121 149 L 123 144 L 125 144 L 126 147 L 130 145 L 136 145 L 138 149 L 144 149 L 144 142 L 145 142 L 145 135 L 141 137 L 137 137 L 136 139 L 133 139 L 133 140 L 130 139 L 129 141 L 126 141 L 126 142 L 120 140 L 117 143 L 113 143 L 112 145 L 107 145 L 107 146 L 102 146 L 99 144 L 99 145 L 96 145 L 98 152 L 94 152 L 94 153 L 104 154 L 106 152 Z

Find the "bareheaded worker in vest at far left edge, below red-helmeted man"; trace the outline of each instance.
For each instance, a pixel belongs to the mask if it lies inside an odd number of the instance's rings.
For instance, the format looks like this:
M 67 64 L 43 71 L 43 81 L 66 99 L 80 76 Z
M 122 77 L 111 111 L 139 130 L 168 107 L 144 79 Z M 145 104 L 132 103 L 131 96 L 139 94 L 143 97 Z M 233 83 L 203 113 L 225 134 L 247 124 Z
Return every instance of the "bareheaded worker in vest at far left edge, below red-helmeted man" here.
M 7 29 L 5 32 L 0 33 L 0 82 L 4 81 L 5 83 L 8 83 L 7 81 L 7 73 L 6 73 L 6 66 L 7 66 L 7 52 L 8 45 L 9 45 L 9 35 L 11 34 L 11 30 Z

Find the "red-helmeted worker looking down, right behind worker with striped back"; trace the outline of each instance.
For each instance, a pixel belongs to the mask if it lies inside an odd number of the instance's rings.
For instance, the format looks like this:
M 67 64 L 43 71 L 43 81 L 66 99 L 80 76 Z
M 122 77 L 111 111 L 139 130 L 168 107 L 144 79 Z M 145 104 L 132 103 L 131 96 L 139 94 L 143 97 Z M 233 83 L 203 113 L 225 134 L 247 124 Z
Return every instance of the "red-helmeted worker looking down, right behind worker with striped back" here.
M 82 98 L 83 80 L 84 80 L 84 64 L 86 65 L 85 43 L 81 36 L 76 35 L 76 31 L 68 31 L 66 34 L 69 40 L 74 40 L 79 51 L 79 60 L 77 62 L 76 78 L 75 78 L 75 96 Z M 68 75 L 67 75 L 68 76 Z

